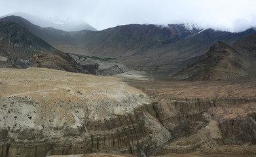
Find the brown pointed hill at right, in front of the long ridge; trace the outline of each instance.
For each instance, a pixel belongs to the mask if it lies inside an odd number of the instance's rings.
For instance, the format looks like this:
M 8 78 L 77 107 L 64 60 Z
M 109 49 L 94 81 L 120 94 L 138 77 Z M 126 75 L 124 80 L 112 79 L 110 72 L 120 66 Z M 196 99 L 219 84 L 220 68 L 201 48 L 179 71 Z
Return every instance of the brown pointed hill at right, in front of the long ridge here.
M 198 60 L 173 77 L 187 80 L 223 80 L 256 75 L 256 33 L 232 44 L 219 41 Z

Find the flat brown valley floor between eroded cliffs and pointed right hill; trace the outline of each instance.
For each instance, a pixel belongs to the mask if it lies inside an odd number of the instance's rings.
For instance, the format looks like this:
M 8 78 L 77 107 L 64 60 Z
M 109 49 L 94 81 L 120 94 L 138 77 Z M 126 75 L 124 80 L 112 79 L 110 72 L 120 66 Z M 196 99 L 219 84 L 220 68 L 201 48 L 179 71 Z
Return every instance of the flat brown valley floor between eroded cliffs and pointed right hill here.
M 137 75 L 137 73 L 141 77 L 123 77 L 122 80 L 156 98 L 220 99 L 225 97 L 250 98 L 256 96 L 256 77 L 222 81 L 179 81 L 167 80 L 168 76 L 163 76 L 159 73 L 152 74 L 151 71 L 135 72 L 134 75 Z

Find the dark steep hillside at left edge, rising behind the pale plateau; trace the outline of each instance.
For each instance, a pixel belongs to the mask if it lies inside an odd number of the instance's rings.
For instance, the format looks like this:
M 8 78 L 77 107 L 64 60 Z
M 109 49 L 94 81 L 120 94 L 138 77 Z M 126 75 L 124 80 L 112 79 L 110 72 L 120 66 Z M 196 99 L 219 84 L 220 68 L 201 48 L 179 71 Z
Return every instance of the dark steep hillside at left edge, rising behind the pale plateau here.
M 14 22 L 0 22 L 0 67 L 48 67 L 84 72 L 69 55 Z

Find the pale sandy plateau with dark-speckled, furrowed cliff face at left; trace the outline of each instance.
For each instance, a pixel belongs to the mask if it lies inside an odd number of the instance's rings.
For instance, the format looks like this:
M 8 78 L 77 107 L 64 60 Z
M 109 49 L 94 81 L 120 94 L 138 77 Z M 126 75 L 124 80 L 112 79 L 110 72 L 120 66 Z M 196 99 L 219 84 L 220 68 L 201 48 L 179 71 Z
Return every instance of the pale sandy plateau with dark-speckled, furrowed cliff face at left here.
M 1 156 L 143 154 L 171 138 L 151 99 L 117 79 L 33 68 L 0 73 Z

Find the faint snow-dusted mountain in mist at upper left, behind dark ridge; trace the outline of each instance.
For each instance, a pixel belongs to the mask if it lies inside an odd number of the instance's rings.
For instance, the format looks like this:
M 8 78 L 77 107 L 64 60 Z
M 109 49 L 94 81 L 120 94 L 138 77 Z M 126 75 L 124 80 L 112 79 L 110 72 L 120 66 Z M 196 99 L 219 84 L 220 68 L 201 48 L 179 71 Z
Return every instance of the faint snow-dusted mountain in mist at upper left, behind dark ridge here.
M 51 19 L 51 18 L 43 18 L 39 16 L 33 16 L 30 14 L 26 14 L 24 12 L 15 12 L 13 14 L 8 14 L 6 16 L 2 16 L 0 18 L 5 18 L 7 16 L 20 16 L 29 20 L 32 24 L 41 27 L 54 27 L 55 29 L 60 29 L 63 31 L 81 31 L 81 30 L 90 30 L 90 31 L 97 31 L 94 27 L 90 26 L 86 22 L 78 21 L 78 20 L 58 20 L 58 19 Z

